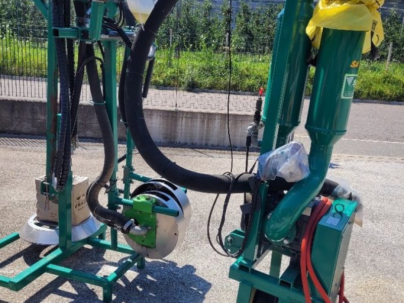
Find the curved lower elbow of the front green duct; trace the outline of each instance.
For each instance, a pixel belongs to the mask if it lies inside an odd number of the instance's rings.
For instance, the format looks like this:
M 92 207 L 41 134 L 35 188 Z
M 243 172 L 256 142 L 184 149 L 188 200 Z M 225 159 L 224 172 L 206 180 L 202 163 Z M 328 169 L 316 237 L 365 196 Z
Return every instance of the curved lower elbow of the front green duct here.
M 274 243 L 291 242 L 294 224 L 310 201 L 318 194 L 327 175 L 332 146 L 312 144 L 309 156 L 310 175 L 287 192 L 264 224 L 265 236 Z

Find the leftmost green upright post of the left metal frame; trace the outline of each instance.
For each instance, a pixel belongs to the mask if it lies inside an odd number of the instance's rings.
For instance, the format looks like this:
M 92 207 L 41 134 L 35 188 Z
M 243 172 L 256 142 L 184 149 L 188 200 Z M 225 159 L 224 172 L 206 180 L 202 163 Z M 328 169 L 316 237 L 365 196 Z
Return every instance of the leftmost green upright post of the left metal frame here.
M 58 114 L 58 66 L 55 38 L 52 35 L 52 8 L 47 10 L 47 86 L 46 86 L 46 181 L 52 182 L 56 157 L 56 115 Z

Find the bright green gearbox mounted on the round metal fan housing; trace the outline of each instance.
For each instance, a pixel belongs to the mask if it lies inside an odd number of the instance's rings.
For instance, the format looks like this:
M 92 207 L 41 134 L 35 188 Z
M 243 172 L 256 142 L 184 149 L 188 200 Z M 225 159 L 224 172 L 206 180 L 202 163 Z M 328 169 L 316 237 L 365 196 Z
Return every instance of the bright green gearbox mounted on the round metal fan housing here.
M 153 206 L 157 203 L 157 200 L 146 195 L 138 195 L 132 201 L 133 207 L 127 210 L 124 209 L 124 216 L 135 219 L 139 226 L 147 227 L 148 232 L 144 236 L 132 234 L 128 234 L 128 236 L 139 245 L 155 248 L 157 217 L 156 213 L 153 212 Z

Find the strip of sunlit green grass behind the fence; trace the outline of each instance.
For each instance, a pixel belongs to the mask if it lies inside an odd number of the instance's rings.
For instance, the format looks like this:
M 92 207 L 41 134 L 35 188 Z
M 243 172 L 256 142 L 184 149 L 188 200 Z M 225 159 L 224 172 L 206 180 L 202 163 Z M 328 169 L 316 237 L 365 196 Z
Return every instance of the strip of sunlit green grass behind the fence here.
M 123 58 L 118 49 L 119 61 Z M 270 55 L 232 55 L 231 89 L 257 92 L 266 88 Z M 160 49 L 152 79 L 154 86 L 178 86 L 181 89 L 227 90 L 228 55 L 210 50 L 182 51 L 177 60 L 174 51 Z M 118 62 L 120 70 L 121 62 Z M 0 74 L 46 77 L 46 44 L 0 38 Z M 119 76 L 119 73 L 118 73 Z M 310 95 L 314 77 L 311 69 L 306 94 Z M 117 79 L 118 80 L 118 79 Z M 404 101 L 404 64 L 362 62 L 355 98 Z

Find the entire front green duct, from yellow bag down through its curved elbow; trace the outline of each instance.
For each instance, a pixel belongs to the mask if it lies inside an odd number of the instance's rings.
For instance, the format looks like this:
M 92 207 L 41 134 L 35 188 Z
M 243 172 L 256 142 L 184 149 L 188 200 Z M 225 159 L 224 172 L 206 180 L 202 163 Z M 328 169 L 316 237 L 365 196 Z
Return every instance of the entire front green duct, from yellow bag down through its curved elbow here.
M 295 183 L 266 222 L 270 241 L 288 236 L 324 182 L 333 146 L 346 132 L 364 40 L 365 32 L 323 30 L 306 123 L 312 140 L 310 175 Z

